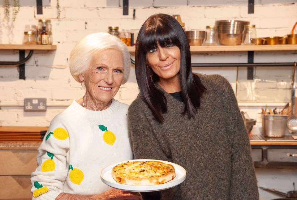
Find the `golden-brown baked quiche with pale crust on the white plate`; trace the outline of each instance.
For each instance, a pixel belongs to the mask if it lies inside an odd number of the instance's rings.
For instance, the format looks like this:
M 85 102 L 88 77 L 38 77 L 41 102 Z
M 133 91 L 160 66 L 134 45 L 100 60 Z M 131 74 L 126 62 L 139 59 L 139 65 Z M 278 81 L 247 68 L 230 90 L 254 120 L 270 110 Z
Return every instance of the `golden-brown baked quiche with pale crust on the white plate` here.
M 173 180 L 175 169 L 171 164 L 156 160 L 128 161 L 114 166 L 111 175 L 115 181 L 126 185 L 159 185 Z

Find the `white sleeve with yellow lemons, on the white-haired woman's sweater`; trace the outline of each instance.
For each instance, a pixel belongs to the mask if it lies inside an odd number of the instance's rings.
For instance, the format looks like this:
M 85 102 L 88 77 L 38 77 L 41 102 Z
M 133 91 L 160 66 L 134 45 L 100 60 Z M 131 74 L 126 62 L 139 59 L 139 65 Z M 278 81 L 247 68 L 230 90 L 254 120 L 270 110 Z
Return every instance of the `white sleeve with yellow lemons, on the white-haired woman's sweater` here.
M 55 117 L 38 148 L 37 169 L 31 174 L 32 200 L 52 200 L 63 192 L 69 146 L 67 128 Z

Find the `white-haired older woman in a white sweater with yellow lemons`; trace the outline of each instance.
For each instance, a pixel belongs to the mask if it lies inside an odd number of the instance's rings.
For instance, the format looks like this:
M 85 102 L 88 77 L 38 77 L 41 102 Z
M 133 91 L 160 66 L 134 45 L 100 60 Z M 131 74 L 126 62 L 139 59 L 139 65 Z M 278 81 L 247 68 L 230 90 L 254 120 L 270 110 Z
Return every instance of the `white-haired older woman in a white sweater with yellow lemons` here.
M 113 99 L 130 73 L 127 46 L 108 33 L 90 34 L 75 45 L 69 68 L 86 92 L 51 121 L 31 174 L 32 199 L 140 199 L 100 179 L 105 166 L 132 159 L 128 105 Z

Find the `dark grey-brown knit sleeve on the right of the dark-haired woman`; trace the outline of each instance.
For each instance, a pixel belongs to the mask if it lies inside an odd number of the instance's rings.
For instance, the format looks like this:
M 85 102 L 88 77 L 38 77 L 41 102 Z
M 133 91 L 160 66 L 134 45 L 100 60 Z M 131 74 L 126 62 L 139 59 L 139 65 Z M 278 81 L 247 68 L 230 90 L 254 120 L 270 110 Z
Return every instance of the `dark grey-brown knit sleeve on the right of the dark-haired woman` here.
M 222 100 L 225 101 L 225 123 L 228 138 L 232 144 L 230 200 L 258 200 L 256 175 L 250 153 L 251 146 L 234 91 L 225 78 L 222 77 L 217 81 L 225 90 Z

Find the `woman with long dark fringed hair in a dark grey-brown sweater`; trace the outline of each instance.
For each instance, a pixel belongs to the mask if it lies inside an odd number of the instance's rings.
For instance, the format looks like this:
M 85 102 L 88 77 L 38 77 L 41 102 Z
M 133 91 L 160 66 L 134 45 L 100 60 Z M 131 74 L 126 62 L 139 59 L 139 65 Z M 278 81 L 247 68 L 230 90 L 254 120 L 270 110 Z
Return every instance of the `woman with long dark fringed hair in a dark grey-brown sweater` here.
M 146 199 L 258 200 L 248 134 L 230 83 L 193 74 L 183 28 L 166 14 L 150 16 L 136 41 L 140 95 L 128 110 L 135 159 L 183 166 L 177 187 L 144 192 Z

